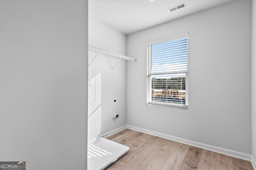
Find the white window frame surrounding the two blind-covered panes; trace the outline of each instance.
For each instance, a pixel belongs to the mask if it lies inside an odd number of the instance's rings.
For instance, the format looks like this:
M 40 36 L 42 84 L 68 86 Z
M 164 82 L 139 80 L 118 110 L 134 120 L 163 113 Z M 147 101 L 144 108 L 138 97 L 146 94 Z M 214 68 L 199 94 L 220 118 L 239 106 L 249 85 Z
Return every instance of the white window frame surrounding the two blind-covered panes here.
M 188 32 L 186 33 L 182 33 L 179 35 L 174 35 L 171 37 L 166 37 L 163 39 L 158 39 L 155 41 L 150 41 L 147 43 L 147 87 L 146 87 L 146 93 L 147 93 L 147 105 L 148 106 L 160 106 L 160 107 L 172 107 L 172 108 L 178 108 L 178 109 L 188 109 L 188 52 L 187 52 L 187 69 L 186 70 L 182 70 L 182 71 L 169 71 L 169 72 L 158 72 L 158 73 L 151 73 L 150 72 L 150 68 L 151 66 L 149 65 L 151 63 L 152 56 L 149 55 L 149 52 L 151 50 L 149 50 L 149 46 L 151 45 L 155 45 L 158 43 L 164 43 L 166 41 L 172 41 L 175 39 L 180 39 L 180 38 L 187 38 L 188 39 Z M 188 42 L 187 42 L 187 46 L 188 46 Z M 189 50 L 189 49 L 188 49 Z M 187 50 L 187 51 L 188 51 Z M 185 104 L 175 104 L 175 103 L 164 103 L 164 102 L 152 102 L 152 80 L 151 80 L 151 76 L 154 75 L 163 75 L 164 74 L 177 74 L 177 73 L 182 73 L 182 74 L 186 74 L 186 101 Z

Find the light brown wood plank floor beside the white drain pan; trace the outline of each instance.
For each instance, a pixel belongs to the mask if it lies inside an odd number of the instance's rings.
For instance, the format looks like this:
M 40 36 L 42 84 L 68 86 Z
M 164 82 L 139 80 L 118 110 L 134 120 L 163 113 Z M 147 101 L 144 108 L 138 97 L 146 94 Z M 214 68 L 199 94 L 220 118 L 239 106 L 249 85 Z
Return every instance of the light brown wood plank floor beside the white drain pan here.
M 106 170 L 253 170 L 249 161 L 130 129 L 107 139 L 130 150 Z

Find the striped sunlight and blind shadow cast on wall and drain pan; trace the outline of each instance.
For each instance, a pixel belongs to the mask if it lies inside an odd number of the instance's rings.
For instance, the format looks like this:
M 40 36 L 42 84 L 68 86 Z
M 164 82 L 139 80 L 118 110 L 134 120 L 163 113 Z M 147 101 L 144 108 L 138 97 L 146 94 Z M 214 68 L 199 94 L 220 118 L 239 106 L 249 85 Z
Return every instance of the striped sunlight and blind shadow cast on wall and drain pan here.
M 101 132 L 101 75 L 88 82 L 88 158 L 102 156 L 104 152 L 93 145 Z

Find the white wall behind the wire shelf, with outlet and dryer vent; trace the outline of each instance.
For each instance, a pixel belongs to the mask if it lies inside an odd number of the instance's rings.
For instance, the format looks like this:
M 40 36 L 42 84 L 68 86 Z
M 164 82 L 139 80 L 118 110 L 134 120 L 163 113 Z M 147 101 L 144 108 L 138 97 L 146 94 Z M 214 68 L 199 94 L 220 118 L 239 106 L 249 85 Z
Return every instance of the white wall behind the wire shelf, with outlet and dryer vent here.
M 90 9 L 90 3 L 89 3 Z M 107 51 L 126 55 L 126 35 L 116 31 L 112 27 L 97 21 L 90 16 L 89 12 L 89 44 L 102 48 Z M 95 53 L 89 53 L 89 63 L 93 60 Z M 110 63 L 111 60 L 111 63 Z M 114 70 L 112 66 L 118 61 L 118 59 L 106 57 L 105 55 L 98 54 L 92 64 L 89 66 L 89 79 L 93 80 L 96 76 L 100 75 L 100 102 L 97 104 L 97 100 L 94 100 L 95 96 L 89 98 L 89 119 L 96 114 L 98 109 L 100 111 L 100 117 L 97 120 L 92 119 L 94 122 L 98 122 L 97 127 L 99 129 L 96 136 L 103 135 L 114 129 L 126 125 L 126 61 L 119 61 Z M 89 89 L 94 90 L 94 84 L 89 86 Z M 89 90 L 90 92 L 90 90 Z M 92 91 L 92 94 L 94 92 Z M 90 95 L 89 95 L 90 97 Z M 117 102 L 113 103 L 113 98 L 117 98 Z M 96 107 L 93 107 L 95 106 Z M 114 119 L 113 115 L 118 113 L 120 116 L 118 119 Z M 95 124 L 95 123 L 94 123 Z M 88 133 L 92 133 L 93 128 L 88 129 Z

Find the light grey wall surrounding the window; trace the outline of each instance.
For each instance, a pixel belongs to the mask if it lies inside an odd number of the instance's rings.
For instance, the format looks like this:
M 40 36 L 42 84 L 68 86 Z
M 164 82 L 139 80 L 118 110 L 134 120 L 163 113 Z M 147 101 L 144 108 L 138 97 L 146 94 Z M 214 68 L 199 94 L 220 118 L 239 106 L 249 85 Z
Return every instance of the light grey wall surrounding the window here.
M 184 9 L 186 10 L 186 9 Z M 147 42 L 189 32 L 188 110 L 146 105 Z M 251 153 L 251 1 L 235 1 L 131 35 L 127 124 Z

